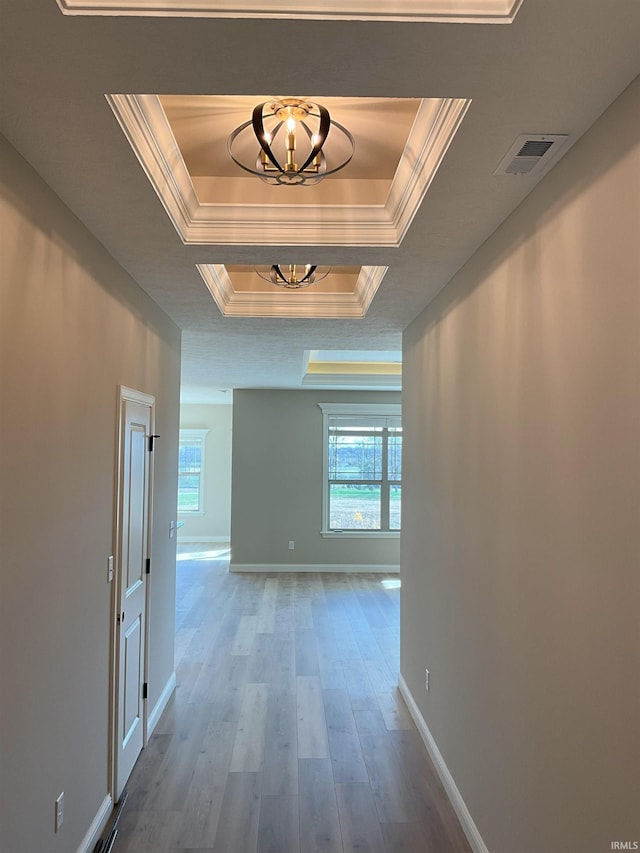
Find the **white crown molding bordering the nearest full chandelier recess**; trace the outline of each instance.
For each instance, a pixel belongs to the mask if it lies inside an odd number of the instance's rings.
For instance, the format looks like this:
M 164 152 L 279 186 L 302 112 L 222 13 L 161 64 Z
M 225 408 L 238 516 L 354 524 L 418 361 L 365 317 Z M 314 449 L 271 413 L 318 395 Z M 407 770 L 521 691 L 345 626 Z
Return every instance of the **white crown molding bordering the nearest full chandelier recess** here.
M 404 238 L 471 103 L 423 100 L 384 206 L 199 202 L 157 95 L 106 95 L 185 244 L 390 246 Z

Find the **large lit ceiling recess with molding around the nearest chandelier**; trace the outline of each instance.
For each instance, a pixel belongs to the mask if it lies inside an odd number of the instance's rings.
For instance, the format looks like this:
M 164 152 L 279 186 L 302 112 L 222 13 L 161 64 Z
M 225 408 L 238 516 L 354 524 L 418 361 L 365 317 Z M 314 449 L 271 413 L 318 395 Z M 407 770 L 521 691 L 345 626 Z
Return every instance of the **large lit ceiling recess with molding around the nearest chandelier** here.
M 317 186 L 274 187 L 227 151 L 229 134 L 268 96 L 107 100 L 184 243 L 279 246 L 400 245 L 470 103 L 312 98 L 353 135 L 353 159 Z M 255 142 L 248 159 L 258 152 Z

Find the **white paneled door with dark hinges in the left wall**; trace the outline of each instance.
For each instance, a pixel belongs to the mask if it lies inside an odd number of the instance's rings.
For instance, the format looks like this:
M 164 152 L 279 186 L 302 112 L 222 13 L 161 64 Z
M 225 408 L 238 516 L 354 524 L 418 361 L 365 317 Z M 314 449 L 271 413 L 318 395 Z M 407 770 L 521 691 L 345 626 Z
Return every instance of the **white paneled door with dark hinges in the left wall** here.
M 144 745 L 146 560 L 149 553 L 153 398 L 122 389 L 116 589 L 115 799 Z

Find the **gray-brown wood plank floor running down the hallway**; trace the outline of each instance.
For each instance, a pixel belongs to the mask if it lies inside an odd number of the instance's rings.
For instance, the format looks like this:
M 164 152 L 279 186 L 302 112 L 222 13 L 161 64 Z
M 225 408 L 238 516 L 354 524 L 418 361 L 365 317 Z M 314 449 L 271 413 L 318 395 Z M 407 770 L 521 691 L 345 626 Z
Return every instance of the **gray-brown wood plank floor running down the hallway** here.
M 382 580 L 178 562 L 178 686 L 114 853 L 470 853 L 396 687 Z

